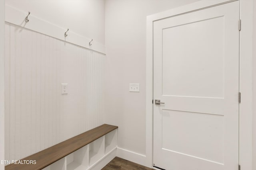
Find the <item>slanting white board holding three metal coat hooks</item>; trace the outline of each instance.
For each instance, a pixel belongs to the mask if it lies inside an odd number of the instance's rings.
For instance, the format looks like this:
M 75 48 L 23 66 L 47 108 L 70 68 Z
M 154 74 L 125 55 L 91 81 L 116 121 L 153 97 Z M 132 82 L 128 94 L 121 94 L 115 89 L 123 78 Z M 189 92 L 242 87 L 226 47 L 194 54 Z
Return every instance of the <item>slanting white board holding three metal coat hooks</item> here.
M 89 42 L 91 41 L 90 38 L 78 35 L 72 32 L 72 30 L 69 30 L 67 32 L 68 36 L 65 38 L 64 33 L 67 31 L 68 28 L 62 28 L 58 25 L 54 25 L 53 23 L 49 23 L 48 21 L 44 21 L 40 18 L 37 18 L 32 13 L 28 16 L 29 21 L 26 23 L 24 19 L 28 15 L 27 12 L 20 11 L 8 5 L 5 6 L 5 10 L 6 22 L 48 35 L 50 37 L 54 37 L 56 39 L 60 39 L 62 41 L 66 41 L 68 43 L 72 43 L 87 49 L 92 49 L 93 51 L 106 54 L 105 45 L 102 45 L 101 43 L 98 43 L 96 41 L 92 41 L 92 45 L 89 46 Z

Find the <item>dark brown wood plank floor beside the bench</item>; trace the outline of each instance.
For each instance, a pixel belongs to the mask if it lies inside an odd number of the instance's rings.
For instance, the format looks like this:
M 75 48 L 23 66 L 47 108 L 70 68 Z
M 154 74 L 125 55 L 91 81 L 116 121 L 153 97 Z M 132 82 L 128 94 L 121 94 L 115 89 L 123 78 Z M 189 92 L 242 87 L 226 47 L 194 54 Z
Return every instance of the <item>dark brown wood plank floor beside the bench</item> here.
M 115 157 L 102 170 L 153 170 L 146 166 L 130 162 L 128 160 Z

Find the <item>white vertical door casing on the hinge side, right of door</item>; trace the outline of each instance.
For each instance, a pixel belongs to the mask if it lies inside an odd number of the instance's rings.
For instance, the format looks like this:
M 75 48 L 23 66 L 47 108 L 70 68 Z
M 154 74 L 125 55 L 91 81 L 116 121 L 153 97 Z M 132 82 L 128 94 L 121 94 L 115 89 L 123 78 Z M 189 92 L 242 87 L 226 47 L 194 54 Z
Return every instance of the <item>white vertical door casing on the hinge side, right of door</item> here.
M 240 0 L 239 147 L 242 170 L 252 170 L 252 14 L 253 0 Z

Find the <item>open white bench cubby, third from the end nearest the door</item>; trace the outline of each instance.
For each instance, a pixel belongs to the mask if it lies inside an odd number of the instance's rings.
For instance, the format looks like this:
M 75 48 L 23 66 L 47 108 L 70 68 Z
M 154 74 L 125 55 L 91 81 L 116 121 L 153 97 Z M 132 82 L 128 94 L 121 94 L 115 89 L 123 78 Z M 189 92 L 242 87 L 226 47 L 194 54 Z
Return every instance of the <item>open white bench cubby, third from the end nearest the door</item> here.
M 67 170 L 86 170 L 88 168 L 88 145 L 72 152 L 67 159 Z

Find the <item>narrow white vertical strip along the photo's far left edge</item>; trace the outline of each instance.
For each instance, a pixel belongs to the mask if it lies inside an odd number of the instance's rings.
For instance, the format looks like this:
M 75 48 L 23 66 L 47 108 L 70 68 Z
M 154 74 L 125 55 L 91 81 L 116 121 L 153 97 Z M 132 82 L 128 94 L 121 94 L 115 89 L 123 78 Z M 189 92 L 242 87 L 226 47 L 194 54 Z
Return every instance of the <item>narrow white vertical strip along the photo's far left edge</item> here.
M 0 160 L 4 160 L 4 0 L 0 0 L 0 37 Z

